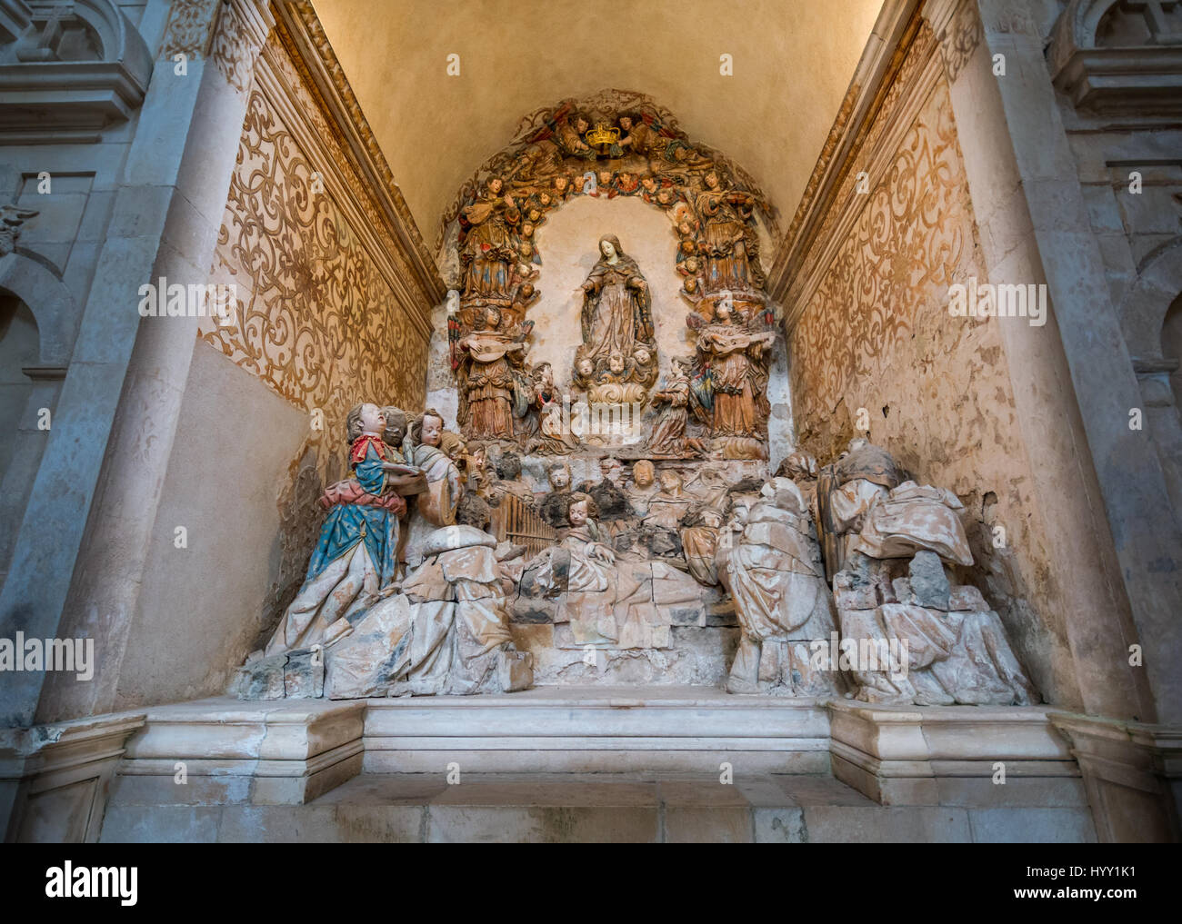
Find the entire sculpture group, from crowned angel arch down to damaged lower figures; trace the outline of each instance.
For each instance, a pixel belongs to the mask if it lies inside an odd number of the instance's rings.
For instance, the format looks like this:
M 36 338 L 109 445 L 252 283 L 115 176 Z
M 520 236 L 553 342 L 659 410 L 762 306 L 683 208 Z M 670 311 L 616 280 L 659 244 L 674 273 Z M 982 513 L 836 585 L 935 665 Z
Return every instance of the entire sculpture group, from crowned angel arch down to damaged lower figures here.
M 860 438 L 769 476 L 780 344 L 749 177 L 643 105 L 539 119 L 447 226 L 457 432 L 435 410 L 353 408 L 350 477 L 325 489 L 304 586 L 239 694 L 508 692 L 553 651 L 547 682 L 609 656 L 661 682 L 687 626 L 714 620 L 729 636 L 690 682 L 733 694 L 1031 702 L 998 613 L 955 578 L 973 564 L 955 495 Z M 669 217 L 690 356 L 661 354 L 645 272 L 600 234 L 569 367 L 530 365 L 535 232 L 579 196 Z

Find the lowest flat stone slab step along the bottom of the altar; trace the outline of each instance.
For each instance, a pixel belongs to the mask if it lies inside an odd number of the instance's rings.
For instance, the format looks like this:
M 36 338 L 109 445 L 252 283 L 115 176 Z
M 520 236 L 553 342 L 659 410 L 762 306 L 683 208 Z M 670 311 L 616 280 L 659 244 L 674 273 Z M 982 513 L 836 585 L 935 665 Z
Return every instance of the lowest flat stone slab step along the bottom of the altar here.
M 453 780 L 455 777 L 453 776 Z M 1045 794 L 1032 793 L 1032 799 Z M 301 806 L 138 805 L 104 842 L 1074 842 L 1086 805 L 881 806 L 829 775 L 363 774 Z

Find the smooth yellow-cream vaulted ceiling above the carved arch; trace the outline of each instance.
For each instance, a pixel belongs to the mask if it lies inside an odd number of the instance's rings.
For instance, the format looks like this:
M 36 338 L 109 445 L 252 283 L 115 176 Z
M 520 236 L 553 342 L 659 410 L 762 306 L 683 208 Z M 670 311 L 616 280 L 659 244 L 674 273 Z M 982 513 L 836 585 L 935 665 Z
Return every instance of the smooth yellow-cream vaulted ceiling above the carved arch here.
M 668 108 L 691 139 L 748 170 L 786 223 L 882 0 L 313 5 L 430 242 L 460 184 L 513 141 L 524 115 L 605 87 Z

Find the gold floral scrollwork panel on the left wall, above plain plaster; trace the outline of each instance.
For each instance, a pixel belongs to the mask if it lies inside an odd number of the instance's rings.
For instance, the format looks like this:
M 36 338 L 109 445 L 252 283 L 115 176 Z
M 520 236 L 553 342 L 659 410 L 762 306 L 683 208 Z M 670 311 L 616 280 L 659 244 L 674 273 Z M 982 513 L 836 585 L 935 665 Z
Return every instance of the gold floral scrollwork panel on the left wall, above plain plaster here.
M 252 89 L 213 268 L 238 286 L 236 318 L 208 323 L 201 339 L 292 404 L 319 411 L 333 434 L 363 398 L 422 406 L 427 337 L 324 191 L 324 170 Z

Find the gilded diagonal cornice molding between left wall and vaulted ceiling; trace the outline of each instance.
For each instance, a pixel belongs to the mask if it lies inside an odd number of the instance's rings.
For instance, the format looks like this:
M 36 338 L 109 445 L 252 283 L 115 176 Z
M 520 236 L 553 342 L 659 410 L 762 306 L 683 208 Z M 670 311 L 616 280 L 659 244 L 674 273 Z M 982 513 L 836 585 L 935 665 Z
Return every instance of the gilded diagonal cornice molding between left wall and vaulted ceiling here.
M 443 301 L 447 287 L 312 4 L 307 0 L 272 2 L 271 9 L 279 38 L 307 85 L 314 90 L 313 99 L 325 122 L 350 151 L 361 175 L 382 202 L 387 222 L 408 259 L 410 281 L 420 293 L 422 318 L 424 324 L 429 323 L 430 308 Z

